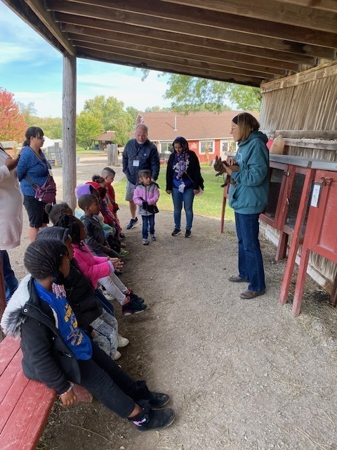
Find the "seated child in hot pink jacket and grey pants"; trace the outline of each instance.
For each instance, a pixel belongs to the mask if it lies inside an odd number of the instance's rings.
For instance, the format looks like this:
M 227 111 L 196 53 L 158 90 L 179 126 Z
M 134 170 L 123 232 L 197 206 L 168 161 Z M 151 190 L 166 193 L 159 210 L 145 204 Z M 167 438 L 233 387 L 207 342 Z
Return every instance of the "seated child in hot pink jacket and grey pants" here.
M 115 267 L 120 270 L 123 265 L 120 259 L 94 256 L 82 242 L 86 238 L 86 230 L 84 224 L 77 217 L 62 214 L 57 224 L 69 229 L 70 236 L 72 236 L 74 258 L 77 260 L 81 272 L 93 283 L 93 287 L 96 289 L 98 283 L 103 285 L 107 292 L 119 302 L 124 316 L 143 312 L 146 308 L 144 300 L 133 293 L 130 288 L 126 288 L 114 274 Z

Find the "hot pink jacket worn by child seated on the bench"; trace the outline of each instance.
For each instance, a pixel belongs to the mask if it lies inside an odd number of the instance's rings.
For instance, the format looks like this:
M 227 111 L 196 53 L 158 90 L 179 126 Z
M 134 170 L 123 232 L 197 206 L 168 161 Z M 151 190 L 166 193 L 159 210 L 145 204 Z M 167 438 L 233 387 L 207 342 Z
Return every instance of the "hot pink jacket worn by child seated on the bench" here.
M 77 244 L 73 243 L 72 246 L 74 247 L 74 258 L 77 260 L 81 272 L 91 280 L 96 289 L 99 278 L 110 275 L 111 266 L 107 262 L 107 257 L 93 256 L 86 245 L 83 245 L 81 249 Z

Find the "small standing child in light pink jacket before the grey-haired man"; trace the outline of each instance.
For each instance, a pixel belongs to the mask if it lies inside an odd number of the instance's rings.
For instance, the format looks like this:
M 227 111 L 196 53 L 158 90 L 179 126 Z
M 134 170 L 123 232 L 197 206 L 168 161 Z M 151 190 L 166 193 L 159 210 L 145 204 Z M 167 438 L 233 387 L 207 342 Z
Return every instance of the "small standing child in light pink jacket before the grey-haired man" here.
M 157 183 L 152 181 L 150 170 L 140 170 L 138 179 L 139 183 L 133 193 L 133 202 L 138 205 L 138 214 L 143 219 L 143 245 L 149 245 L 149 229 L 151 239 L 156 240 L 156 236 L 154 236 L 154 214 L 159 212 L 156 205 L 159 199 L 159 188 Z

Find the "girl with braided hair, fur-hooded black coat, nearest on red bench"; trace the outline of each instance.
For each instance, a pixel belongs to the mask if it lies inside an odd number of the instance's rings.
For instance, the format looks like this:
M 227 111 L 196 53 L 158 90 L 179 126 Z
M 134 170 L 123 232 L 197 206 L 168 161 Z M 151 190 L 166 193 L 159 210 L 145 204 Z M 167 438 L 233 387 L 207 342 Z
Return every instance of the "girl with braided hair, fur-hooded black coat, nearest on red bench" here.
M 77 401 L 72 384 L 77 383 L 140 431 L 168 427 L 173 409 L 158 408 L 169 396 L 150 392 L 145 381 L 129 377 L 79 328 L 63 287 L 70 272 L 68 256 L 66 246 L 54 239 L 37 240 L 25 253 L 30 274 L 1 320 L 6 335 L 21 337 L 23 372 L 55 389 L 63 406 Z

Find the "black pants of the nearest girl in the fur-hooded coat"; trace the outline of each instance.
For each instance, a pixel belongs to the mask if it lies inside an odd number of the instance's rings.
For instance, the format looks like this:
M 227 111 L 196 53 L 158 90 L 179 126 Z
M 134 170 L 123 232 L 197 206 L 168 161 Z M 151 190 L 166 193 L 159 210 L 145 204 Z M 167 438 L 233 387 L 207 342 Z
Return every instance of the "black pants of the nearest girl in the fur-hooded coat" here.
M 138 386 L 95 342 L 92 345 L 91 359 L 78 361 L 81 371 L 79 385 L 91 392 L 107 409 L 126 418 L 135 407 L 133 399 L 145 398 L 148 390 Z

